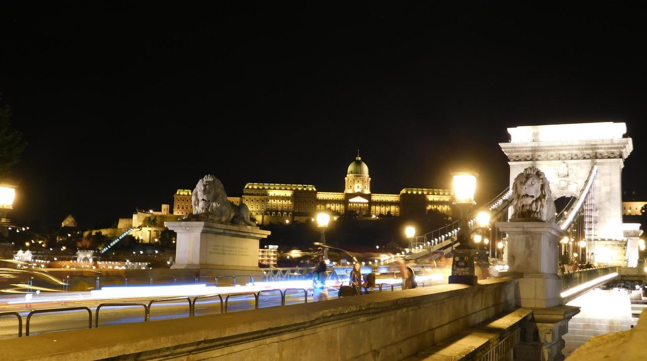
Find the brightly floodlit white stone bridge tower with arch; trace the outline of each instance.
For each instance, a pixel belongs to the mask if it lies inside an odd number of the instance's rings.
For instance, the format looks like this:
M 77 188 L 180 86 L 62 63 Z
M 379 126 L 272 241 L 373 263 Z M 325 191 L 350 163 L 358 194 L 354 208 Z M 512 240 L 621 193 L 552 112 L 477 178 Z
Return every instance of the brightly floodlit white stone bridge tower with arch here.
M 521 170 L 534 165 L 551 183 L 554 199 L 578 196 L 591 167 L 598 166 L 586 240 L 595 242 L 597 262 L 617 265 L 625 262 L 621 249 L 631 237 L 622 224 L 622 167 L 633 150 L 626 131 L 625 123 L 613 122 L 515 127 L 508 128 L 510 141 L 499 143 L 509 160 L 510 186 Z

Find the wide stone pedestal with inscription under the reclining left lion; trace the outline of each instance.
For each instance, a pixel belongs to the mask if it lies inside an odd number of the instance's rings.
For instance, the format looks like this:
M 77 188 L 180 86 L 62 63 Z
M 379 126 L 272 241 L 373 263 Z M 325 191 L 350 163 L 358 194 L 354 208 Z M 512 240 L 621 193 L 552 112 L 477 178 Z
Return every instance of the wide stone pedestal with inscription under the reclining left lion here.
M 199 269 L 201 276 L 262 274 L 259 240 L 269 231 L 248 225 L 210 222 L 165 222 L 177 233 L 171 269 Z

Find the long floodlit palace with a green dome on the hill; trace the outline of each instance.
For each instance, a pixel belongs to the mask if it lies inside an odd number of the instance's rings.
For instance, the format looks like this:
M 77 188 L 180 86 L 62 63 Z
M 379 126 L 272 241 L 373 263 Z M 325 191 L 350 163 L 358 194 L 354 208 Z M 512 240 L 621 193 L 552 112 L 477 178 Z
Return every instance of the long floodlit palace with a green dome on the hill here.
M 452 191 L 447 189 L 405 188 L 399 194 L 371 193 L 368 166 L 358 155 L 348 166 L 344 192 L 319 192 L 314 185 L 247 183 L 242 197 L 228 197 L 245 203 L 259 224 L 305 222 L 316 211 L 329 209 L 339 214 L 355 211 L 360 218 L 410 216 L 430 209 L 451 215 Z M 191 191 L 178 189 L 173 214 L 192 212 Z

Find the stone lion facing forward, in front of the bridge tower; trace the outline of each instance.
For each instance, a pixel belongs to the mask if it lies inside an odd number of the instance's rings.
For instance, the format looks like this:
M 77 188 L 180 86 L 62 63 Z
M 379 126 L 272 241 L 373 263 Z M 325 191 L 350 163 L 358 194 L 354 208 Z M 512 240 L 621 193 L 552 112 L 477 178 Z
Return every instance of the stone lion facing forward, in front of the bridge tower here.
M 527 167 L 512 183 L 512 218 L 532 218 L 555 223 L 555 202 L 545 174 Z

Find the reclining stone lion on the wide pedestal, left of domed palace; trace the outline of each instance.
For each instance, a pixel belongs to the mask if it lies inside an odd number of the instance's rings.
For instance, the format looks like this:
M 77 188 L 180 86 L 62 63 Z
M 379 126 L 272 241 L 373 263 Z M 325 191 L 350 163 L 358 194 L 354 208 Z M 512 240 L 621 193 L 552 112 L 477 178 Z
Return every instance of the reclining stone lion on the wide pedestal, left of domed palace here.
M 223 183 L 211 174 L 198 181 L 192 193 L 193 214 L 185 220 L 206 220 L 217 223 L 256 225 L 249 220 L 249 209 L 245 203 L 240 206 L 227 200 Z

